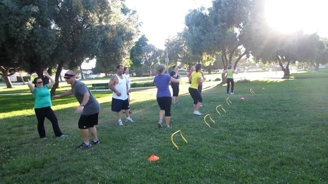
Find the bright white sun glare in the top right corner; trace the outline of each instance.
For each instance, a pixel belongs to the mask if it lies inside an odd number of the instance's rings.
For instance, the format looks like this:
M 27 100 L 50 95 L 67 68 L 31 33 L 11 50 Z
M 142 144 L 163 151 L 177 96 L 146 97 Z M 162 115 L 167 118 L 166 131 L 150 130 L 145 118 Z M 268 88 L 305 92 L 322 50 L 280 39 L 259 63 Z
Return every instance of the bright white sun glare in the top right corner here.
M 265 18 L 272 28 L 282 33 L 303 30 L 328 37 L 327 6 L 328 2 L 322 0 L 267 0 Z

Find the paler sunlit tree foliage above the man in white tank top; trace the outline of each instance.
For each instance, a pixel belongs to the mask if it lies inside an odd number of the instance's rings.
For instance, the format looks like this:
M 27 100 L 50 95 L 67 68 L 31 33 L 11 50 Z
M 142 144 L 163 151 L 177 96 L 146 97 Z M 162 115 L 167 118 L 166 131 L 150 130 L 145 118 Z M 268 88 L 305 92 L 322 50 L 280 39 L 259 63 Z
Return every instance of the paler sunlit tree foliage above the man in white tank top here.
M 100 65 L 98 67 L 108 73 L 118 64 L 130 65 L 126 58 L 133 47 L 138 27 L 136 11 L 128 9 L 121 1 L 113 1 L 110 21 L 99 26 L 96 66 Z

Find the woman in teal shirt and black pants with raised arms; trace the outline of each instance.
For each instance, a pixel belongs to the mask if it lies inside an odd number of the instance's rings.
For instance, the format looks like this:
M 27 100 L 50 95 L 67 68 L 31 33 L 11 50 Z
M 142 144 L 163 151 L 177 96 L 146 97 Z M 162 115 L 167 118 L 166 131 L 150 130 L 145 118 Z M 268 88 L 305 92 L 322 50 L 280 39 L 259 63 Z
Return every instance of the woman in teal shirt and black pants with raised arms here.
M 34 86 L 32 81 L 29 81 L 27 84 L 35 98 L 34 111 L 37 119 L 37 131 L 39 132 L 40 138 L 47 139 L 44 123 L 45 118 L 48 118 L 52 123 L 55 135 L 57 137 L 67 137 L 68 135 L 61 133 L 56 114 L 51 109 L 52 104 L 49 88 L 55 84 L 55 81 L 51 78 L 48 72 L 44 72 L 43 75 L 50 80 L 49 84 L 43 85 L 43 80 L 39 77 L 33 80 L 33 83 L 35 84 Z

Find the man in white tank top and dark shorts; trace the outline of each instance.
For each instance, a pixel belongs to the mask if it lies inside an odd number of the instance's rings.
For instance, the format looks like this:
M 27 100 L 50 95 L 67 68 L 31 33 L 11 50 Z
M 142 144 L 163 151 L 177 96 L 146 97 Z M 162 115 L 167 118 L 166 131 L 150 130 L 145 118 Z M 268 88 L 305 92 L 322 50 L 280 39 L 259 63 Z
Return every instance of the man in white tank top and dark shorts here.
M 113 91 L 112 95 L 112 111 L 116 112 L 118 125 L 122 126 L 121 110 L 125 110 L 126 121 L 134 122 L 129 114 L 129 100 L 128 100 L 128 84 L 126 78 L 123 76 L 124 67 L 122 65 L 116 66 L 116 74 L 113 75 L 108 83 L 108 87 Z

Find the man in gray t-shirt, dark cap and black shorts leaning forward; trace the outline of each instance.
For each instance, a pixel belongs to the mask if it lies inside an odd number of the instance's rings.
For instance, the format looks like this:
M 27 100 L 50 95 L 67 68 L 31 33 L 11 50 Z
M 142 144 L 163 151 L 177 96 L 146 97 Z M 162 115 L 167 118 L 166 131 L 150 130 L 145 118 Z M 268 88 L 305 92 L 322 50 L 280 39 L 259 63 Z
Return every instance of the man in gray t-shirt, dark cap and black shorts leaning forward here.
M 89 130 L 93 135 L 93 141 L 91 143 L 95 145 L 100 144 L 95 127 L 95 125 L 98 125 L 98 113 L 100 111 L 99 102 L 93 97 L 91 91 L 83 82 L 75 79 L 75 73 L 73 71 L 66 72 L 64 78 L 68 84 L 72 85 L 72 89 L 66 91 L 64 94 L 55 95 L 53 98 L 58 99 L 74 94 L 75 98 L 80 103 L 75 112 L 81 114 L 78 121 L 78 128 L 81 130 L 83 143 L 77 148 L 83 149 L 91 147 L 89 142 Z

